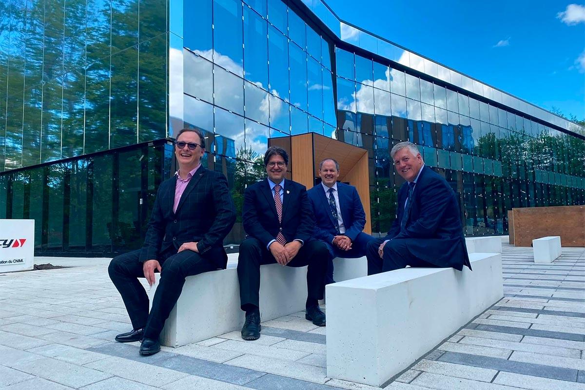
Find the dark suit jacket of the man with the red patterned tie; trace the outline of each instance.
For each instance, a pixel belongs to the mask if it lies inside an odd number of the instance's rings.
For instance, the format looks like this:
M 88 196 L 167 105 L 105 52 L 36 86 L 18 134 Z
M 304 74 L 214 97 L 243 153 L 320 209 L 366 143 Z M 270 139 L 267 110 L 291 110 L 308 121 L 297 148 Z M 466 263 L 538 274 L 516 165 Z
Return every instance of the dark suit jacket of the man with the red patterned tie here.
M 278 222 L 273 192 L 267 179 L 246 188 L 242 220 L 247 235 L 259 240 L 264 247 L 270 241 L 276 240 L 280 231 L 287 242 L 302 240 L 307 243 L 313 234 L 313 210 L 307 198 L 307 189 L 304 185 L 287 179 L 284 180 L 281 223 Z

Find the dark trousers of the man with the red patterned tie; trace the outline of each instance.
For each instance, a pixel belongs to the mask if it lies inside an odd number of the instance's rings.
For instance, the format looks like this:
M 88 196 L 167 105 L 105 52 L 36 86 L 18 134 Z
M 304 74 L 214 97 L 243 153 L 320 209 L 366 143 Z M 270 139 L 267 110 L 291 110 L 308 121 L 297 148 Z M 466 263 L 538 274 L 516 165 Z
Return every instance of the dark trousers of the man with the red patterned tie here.
M 324 279 L 327 269 L 328 252 L 318 240 L 305 242 L 288 267 L 307 268 L 307 299 L 323 299 Z M 240 305 L 260 306 L 260 265 L 274 264 L 276 259 L 259 240 L 247 237 L 240 245 L 238 257 L 238 279 L 240 281 Z M 278 299 L 277 296 L 274 299 Z

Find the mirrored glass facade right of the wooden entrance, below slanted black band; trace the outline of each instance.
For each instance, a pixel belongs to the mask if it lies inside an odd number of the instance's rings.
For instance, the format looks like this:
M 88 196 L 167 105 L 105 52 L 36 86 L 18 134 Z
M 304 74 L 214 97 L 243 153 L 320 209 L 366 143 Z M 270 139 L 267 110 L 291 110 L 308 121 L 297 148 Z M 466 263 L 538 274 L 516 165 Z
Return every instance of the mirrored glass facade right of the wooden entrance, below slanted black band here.
M 340 139 L 373 149 L 374 232 L 395 218 L 403 180 L 389 152 L 407 140 L 459 194 L 466 234 L 507 233 L 512 207 L 585 203 L 585 140 L 399 65 L 340 47 L 335 56 Z

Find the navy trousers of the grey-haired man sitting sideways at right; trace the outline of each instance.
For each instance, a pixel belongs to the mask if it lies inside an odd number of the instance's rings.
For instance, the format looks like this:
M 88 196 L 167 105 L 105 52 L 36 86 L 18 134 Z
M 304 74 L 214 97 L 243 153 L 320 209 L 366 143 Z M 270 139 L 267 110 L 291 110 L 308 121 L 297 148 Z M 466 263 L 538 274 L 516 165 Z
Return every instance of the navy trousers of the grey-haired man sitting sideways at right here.
M 421 260 L 410 253 L 408 241 L 408 239 L 388 241 L 384 245 L 384 255 L 380 258 L 378 248 L 383 243 L 383 240 L 371 240 L 366 248 L 367 274 L 374 275 L 380 272 L 400 270 L 400 268 L 404 268 L 407 265 L 411 267 L 437 267 L 437 265 Z

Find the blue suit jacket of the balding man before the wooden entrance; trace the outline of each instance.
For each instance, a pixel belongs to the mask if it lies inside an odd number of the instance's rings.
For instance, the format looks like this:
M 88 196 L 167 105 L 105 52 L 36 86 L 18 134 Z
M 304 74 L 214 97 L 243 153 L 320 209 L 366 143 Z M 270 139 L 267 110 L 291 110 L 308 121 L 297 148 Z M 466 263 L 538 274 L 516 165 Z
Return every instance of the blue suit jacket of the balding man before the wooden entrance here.
M 339 209 L 341 218 L 345 226 L 345 236 L 355 241 L 357 234 L 360 234 L 366 225 L 366 213 L 357 194 L 357 189 L 353 185 L 347 185 L 341 182 L 337 184 Z M 322 184 L 307 191 L 307 196 L 313 208 L 315 215 L 315 238 L 331 244 L 333 236 L 337 235 L 335 230 L 335 221 L 329 208 L 329 199 Z

